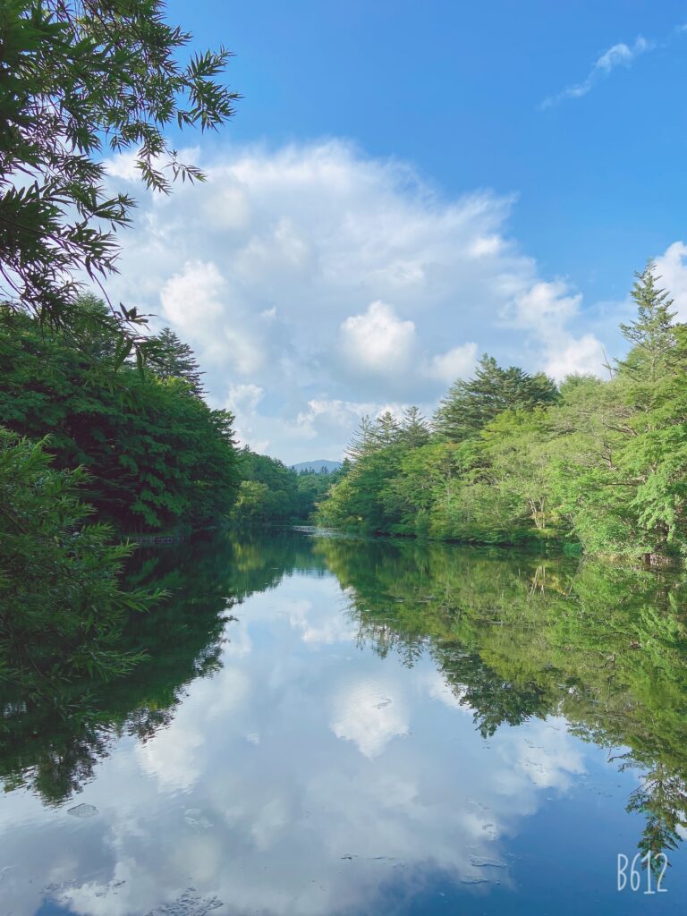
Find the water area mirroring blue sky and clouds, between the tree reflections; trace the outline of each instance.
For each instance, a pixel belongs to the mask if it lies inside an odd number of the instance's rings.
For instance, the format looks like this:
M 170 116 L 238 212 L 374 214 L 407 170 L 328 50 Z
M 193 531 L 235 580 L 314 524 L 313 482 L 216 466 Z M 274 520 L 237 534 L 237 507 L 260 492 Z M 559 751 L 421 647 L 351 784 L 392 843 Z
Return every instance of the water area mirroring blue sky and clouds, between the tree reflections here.
M 111 728 L 57 803 L 28 770 L 6 792 L 1 916 L 685 911 L 682 847 L 666 893 L 646 870 L 616 889 L 644 825 L 618 748 L 555 708 L 483 737 L 428 646 L 410 665 L 361 637 L 353 586 L 300 538 L 267 590 L 227 596 L 221 667 L 165 722 Z

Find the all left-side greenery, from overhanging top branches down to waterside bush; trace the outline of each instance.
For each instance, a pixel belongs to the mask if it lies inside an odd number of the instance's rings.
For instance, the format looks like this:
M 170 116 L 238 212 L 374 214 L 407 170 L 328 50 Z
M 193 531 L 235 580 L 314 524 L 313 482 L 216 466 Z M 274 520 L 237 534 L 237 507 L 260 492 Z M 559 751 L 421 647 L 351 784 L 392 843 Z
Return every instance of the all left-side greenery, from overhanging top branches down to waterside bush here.
M 127 622 L 169 602 L 124 583 L 128 539 L 301 521 L 329 478 L 240 451 L 190 347 L 107 295 L 136 202 L 104 159 L 163 194 L 204 180 L 166 130 L 234 115 L 229 51 L 184 63 L 156 0 L 5 4 L 0 34 L 0 678 L 57 695 L 129 671 Z

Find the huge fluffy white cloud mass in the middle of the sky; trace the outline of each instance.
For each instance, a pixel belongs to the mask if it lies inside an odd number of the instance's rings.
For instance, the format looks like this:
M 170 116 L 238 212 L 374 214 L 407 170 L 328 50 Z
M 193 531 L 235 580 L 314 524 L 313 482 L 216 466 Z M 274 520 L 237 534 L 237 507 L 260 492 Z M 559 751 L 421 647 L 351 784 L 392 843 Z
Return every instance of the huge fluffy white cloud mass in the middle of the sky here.
M 512 198 L 449 199 L 338 141 L 199 164 L 204 184 L 144 194 L 112 293 L 191 344 L 242 442 L 337 458 L 364 413 L 431 412 L 482 352 L 559 374 L 594 363 L 579 295 L 536 301 L 547 284 L 508 234 Z M 134 191 L 128 159 L 110 174 Z

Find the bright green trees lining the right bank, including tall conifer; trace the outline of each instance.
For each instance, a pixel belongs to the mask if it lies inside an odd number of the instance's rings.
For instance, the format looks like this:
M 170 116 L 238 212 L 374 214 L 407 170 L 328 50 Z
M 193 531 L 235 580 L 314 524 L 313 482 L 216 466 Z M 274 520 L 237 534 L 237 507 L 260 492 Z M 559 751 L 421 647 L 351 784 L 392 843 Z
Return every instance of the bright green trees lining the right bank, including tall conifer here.
M 513 544 L 557 541 L 651 562 L 687 550 L 687 326 L 651 262 L 607 379 L 502 368 L 484 356 L 431 422 L 362 421 L 321 524 Z

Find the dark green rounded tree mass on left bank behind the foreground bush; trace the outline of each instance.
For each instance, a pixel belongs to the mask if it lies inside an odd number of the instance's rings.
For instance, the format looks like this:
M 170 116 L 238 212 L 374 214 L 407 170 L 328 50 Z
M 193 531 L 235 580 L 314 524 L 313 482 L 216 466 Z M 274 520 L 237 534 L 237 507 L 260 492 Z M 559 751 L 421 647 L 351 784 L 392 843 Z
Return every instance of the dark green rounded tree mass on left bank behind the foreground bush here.
M 71 334 L 0 312 L 0 421 L 51 437 L 60 468 L 82 465 L 86 493 L 127 530 L 226 518 L 238 485 L 231 414 L 192 382 L 135 366 L 115 371 L 117 329 L 97 300 L 78 302 Z

